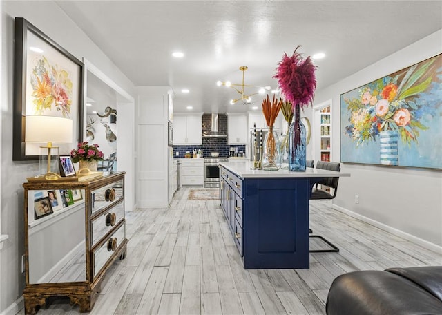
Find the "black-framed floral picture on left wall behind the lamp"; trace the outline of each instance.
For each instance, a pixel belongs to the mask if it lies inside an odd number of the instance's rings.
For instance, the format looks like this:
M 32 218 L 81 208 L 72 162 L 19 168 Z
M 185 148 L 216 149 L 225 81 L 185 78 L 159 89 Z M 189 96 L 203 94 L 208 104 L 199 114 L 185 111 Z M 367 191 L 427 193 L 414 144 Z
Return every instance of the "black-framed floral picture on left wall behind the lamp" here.
M 69 154 L 83 138 L 84 64 L 22 17 L 15 18 L 14 59 L 12 160 L 39 160 L 41 143 L 26 142 L 32 116 L 72 120 L 72 142 L 57 143 L 59 154 Z

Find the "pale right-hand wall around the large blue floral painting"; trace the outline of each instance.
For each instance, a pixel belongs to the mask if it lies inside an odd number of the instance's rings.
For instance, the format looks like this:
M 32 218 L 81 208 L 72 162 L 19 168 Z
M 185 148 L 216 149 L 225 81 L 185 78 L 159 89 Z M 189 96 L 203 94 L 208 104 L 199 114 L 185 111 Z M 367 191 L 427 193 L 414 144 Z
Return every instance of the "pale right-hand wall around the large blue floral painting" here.
M 442 30 L 316 92 L 315 104 L 332 99 L 333 160 L 340 159 L 340 94 L 442 52 Z M 442 105 L 441 105 L 442 106 Z M 342 164 L 336 209 L 442 252 L 442 171 Z M 354 195 L 359 195 L 355 204 Z

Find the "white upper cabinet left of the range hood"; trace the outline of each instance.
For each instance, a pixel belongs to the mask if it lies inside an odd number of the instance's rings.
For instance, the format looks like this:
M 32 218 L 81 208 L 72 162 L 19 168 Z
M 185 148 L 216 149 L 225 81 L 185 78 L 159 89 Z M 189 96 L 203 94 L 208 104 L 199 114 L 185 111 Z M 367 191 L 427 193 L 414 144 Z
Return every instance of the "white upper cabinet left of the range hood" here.
M 201 145 L 202 144 L 202 114 L 173 115 L 173 144 Z

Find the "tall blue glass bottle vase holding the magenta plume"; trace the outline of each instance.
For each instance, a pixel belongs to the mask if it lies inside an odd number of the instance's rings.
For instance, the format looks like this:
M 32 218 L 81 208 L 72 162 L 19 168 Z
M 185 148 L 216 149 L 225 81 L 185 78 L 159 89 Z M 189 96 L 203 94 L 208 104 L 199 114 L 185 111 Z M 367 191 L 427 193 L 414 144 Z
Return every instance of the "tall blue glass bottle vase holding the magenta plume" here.
M 289 171 L 305 171 L 305 159 L 305 126 L 300 119 L 300 108 L 295 106 L 289 129 Z

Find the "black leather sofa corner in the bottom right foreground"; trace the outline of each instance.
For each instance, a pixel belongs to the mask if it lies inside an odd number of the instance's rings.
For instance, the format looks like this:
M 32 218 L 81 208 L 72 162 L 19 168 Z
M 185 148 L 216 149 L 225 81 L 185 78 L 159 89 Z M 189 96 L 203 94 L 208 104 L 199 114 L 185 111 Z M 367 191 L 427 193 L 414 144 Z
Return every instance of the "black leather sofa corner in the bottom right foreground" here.
M 442 266 L 343 274 L 325 308 L 328 315 L 442 315 Z

